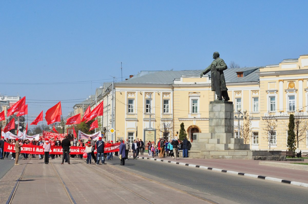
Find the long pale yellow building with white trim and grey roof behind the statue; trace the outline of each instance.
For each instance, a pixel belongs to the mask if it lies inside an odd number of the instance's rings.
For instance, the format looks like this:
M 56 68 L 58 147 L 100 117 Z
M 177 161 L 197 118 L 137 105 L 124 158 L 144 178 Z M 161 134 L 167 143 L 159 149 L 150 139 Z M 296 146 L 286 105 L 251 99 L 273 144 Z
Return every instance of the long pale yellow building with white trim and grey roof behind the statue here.
M 192 142 L 193 133 L 207 133 L 209 101 L 216 97 L 211 91 L 210 74 L 200 78 L 201 71 L 141 71 L 128 80 L 114 83 L 113 89 L 110 83 L 104 85 L 108 88 L 103 88 L 101 98 L 104 107 L 108 105 L 108 112 L 104 112 L 103 127 L 116 130 L 107 138 L 147 141 L 153 138 L 148 134 L 151 128 L 154 130 L 150 132 L 156 130 L 157 141 L 166 132 L 165 127 L 170 128 L 168 136 L 174 137 L 182 122 Z M 289 114 L 300 114 L 303 121 L 308 120 L 308 55 L 265 67 L 227 69 L 224 73 L 234 110 L 246 109 L 252 119 L 250 148 L 286 150 Z M 276 135 L 270 141 L 264 130 L 269 112 L 277 119 Z M 234 129 L 237 137 L 237 119 Z M 302 151 L 308 149 L 307 128 L 303 133 L 299 142 Z

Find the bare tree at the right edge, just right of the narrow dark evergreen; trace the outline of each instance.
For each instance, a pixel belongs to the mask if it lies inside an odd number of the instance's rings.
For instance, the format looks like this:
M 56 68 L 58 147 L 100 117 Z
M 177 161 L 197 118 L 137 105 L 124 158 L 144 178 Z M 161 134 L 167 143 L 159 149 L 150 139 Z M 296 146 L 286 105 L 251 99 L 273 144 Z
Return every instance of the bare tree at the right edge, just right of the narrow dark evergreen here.
M 300 141 L 303 141 L 306 143 L 306 131 L 308 128 L 308 120 L 306 117 L 303 116 L 303 112 L 296 112 L 294 115 L 294 123 L 295 123 L 295 137 L 297 139 L 297 149 L 298 149 L 298 143 Z

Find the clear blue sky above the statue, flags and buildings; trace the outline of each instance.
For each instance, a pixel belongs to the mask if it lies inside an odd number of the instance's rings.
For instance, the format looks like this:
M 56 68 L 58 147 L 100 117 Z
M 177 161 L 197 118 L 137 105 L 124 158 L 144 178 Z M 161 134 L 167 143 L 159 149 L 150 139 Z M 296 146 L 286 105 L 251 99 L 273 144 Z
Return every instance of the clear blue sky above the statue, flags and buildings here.
M 121 80 L 120 62 L 125 79 L 204 69 L 214 51 L 242 67 L 298 58 L 308 53 L 307 8 L 308 1 L 1 1 L 2 83 L 100 81 L 0 84 L 0 93 L 26 96 L 32 122 L 59 100 Z M 62 103 L 63 116 L 77 101 Z

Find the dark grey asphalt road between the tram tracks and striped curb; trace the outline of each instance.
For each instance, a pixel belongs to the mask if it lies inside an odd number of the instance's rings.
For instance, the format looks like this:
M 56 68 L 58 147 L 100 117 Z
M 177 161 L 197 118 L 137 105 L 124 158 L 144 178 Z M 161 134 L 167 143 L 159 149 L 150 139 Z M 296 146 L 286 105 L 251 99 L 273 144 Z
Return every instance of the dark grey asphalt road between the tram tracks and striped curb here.
M 219 203 L 307 203 L 308 189 L 290 184 L 145 159 L 106 163 Z

